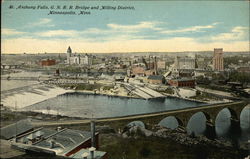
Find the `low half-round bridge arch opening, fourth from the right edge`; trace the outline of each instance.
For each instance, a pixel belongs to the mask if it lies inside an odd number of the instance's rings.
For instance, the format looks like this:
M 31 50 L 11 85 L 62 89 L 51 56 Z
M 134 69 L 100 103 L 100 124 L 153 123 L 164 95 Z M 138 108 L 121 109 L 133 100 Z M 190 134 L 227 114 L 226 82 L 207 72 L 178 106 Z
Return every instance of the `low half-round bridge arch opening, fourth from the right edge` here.
M 167 127 L 170 129 L 176 129 L 178 127 L 184 127 L 183 121 L 176 116 L 167 116 L 162 119 L 158 125 Z

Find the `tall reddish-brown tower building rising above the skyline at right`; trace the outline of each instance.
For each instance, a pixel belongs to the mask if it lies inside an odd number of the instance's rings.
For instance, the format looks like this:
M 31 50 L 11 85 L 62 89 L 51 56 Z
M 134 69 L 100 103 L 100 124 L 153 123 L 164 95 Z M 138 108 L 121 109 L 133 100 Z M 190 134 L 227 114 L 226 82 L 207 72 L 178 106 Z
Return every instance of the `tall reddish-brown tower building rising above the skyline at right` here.
M 224 71 L 223 49 L 215 48 L 213 55 L 213 69 L 216 71 Z

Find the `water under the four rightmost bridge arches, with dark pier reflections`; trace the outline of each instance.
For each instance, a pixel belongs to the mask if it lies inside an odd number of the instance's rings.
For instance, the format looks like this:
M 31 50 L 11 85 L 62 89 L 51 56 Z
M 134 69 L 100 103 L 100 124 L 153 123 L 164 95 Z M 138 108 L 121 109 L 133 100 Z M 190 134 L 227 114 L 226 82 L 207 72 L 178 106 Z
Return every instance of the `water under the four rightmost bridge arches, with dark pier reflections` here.
M 238 147 L 239 142 L 246 142 L 250 138 L 250 106 L 248 105 L 242 110 L 240 123 L 230 118 L 231 113 L 227 108 L 221 110 L 216 117 L 214 131 L 213 127 L 206 125 L 207 119 L 204 113 L 198 112 L 189 119 L 187 132 L 188 134 L 206 135 L 209 138 L 231 140 L 233 145 Z M 178 127 L 175 117 L 167 117 L 159 124 L 171 129 Z

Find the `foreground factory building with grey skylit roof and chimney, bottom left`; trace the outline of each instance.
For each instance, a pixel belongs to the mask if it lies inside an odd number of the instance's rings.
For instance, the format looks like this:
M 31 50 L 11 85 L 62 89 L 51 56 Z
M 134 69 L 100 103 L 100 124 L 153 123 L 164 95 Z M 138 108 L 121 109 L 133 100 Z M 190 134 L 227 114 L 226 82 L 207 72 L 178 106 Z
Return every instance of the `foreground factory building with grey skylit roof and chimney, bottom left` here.
M 34 128 L 28 120 L 1 128 L 1 139 L 11 141 L 12 147 L 27 153 L 77 158 L 89 152 L 87 159 L 107 159 L 107 153 L 98 151 L 99 133 L 91 122 L 91 132 L 67 128 Z M 86 154 L 86 153 L 85 153 Z

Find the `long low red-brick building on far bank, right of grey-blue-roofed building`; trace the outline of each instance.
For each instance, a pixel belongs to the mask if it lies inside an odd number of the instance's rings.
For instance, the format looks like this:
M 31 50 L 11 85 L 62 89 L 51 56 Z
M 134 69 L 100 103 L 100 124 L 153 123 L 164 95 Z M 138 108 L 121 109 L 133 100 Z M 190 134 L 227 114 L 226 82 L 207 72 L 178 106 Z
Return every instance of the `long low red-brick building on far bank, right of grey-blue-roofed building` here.
M 192 78 L 170 79 L 168 84 L 175 87 L 195 87 L 195 80 Z

